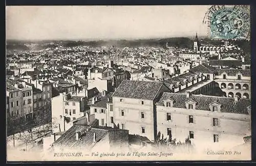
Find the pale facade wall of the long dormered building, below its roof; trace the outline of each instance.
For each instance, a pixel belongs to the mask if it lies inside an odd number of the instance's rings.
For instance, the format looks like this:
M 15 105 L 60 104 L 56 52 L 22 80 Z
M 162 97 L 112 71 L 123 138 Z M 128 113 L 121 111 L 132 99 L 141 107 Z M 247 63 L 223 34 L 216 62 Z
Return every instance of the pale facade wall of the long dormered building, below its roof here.
M 166 114 L 171 113 L 172 120 L 167 121 Z M 193 115 L 194 123 L 189 123 L 188 116 Z M 212 118 L 218 118 L 219 126 L 213 126 Z M 202 125 L 203 124 L 203 125 Z M 251 135 L 250 116 L 231 113 L 216 113 L 208 110 L 191 110 L 157 105 L 158 131 L 167 137 L 167 128 L 172 129 L 172 139 L 184 142 L 189 131 L 194 131 L 192 142 L 197 147 L 214 143 L 214 134 L 219 135 L 219 143 L 236 146 L 244 143 L 243 137 Z

